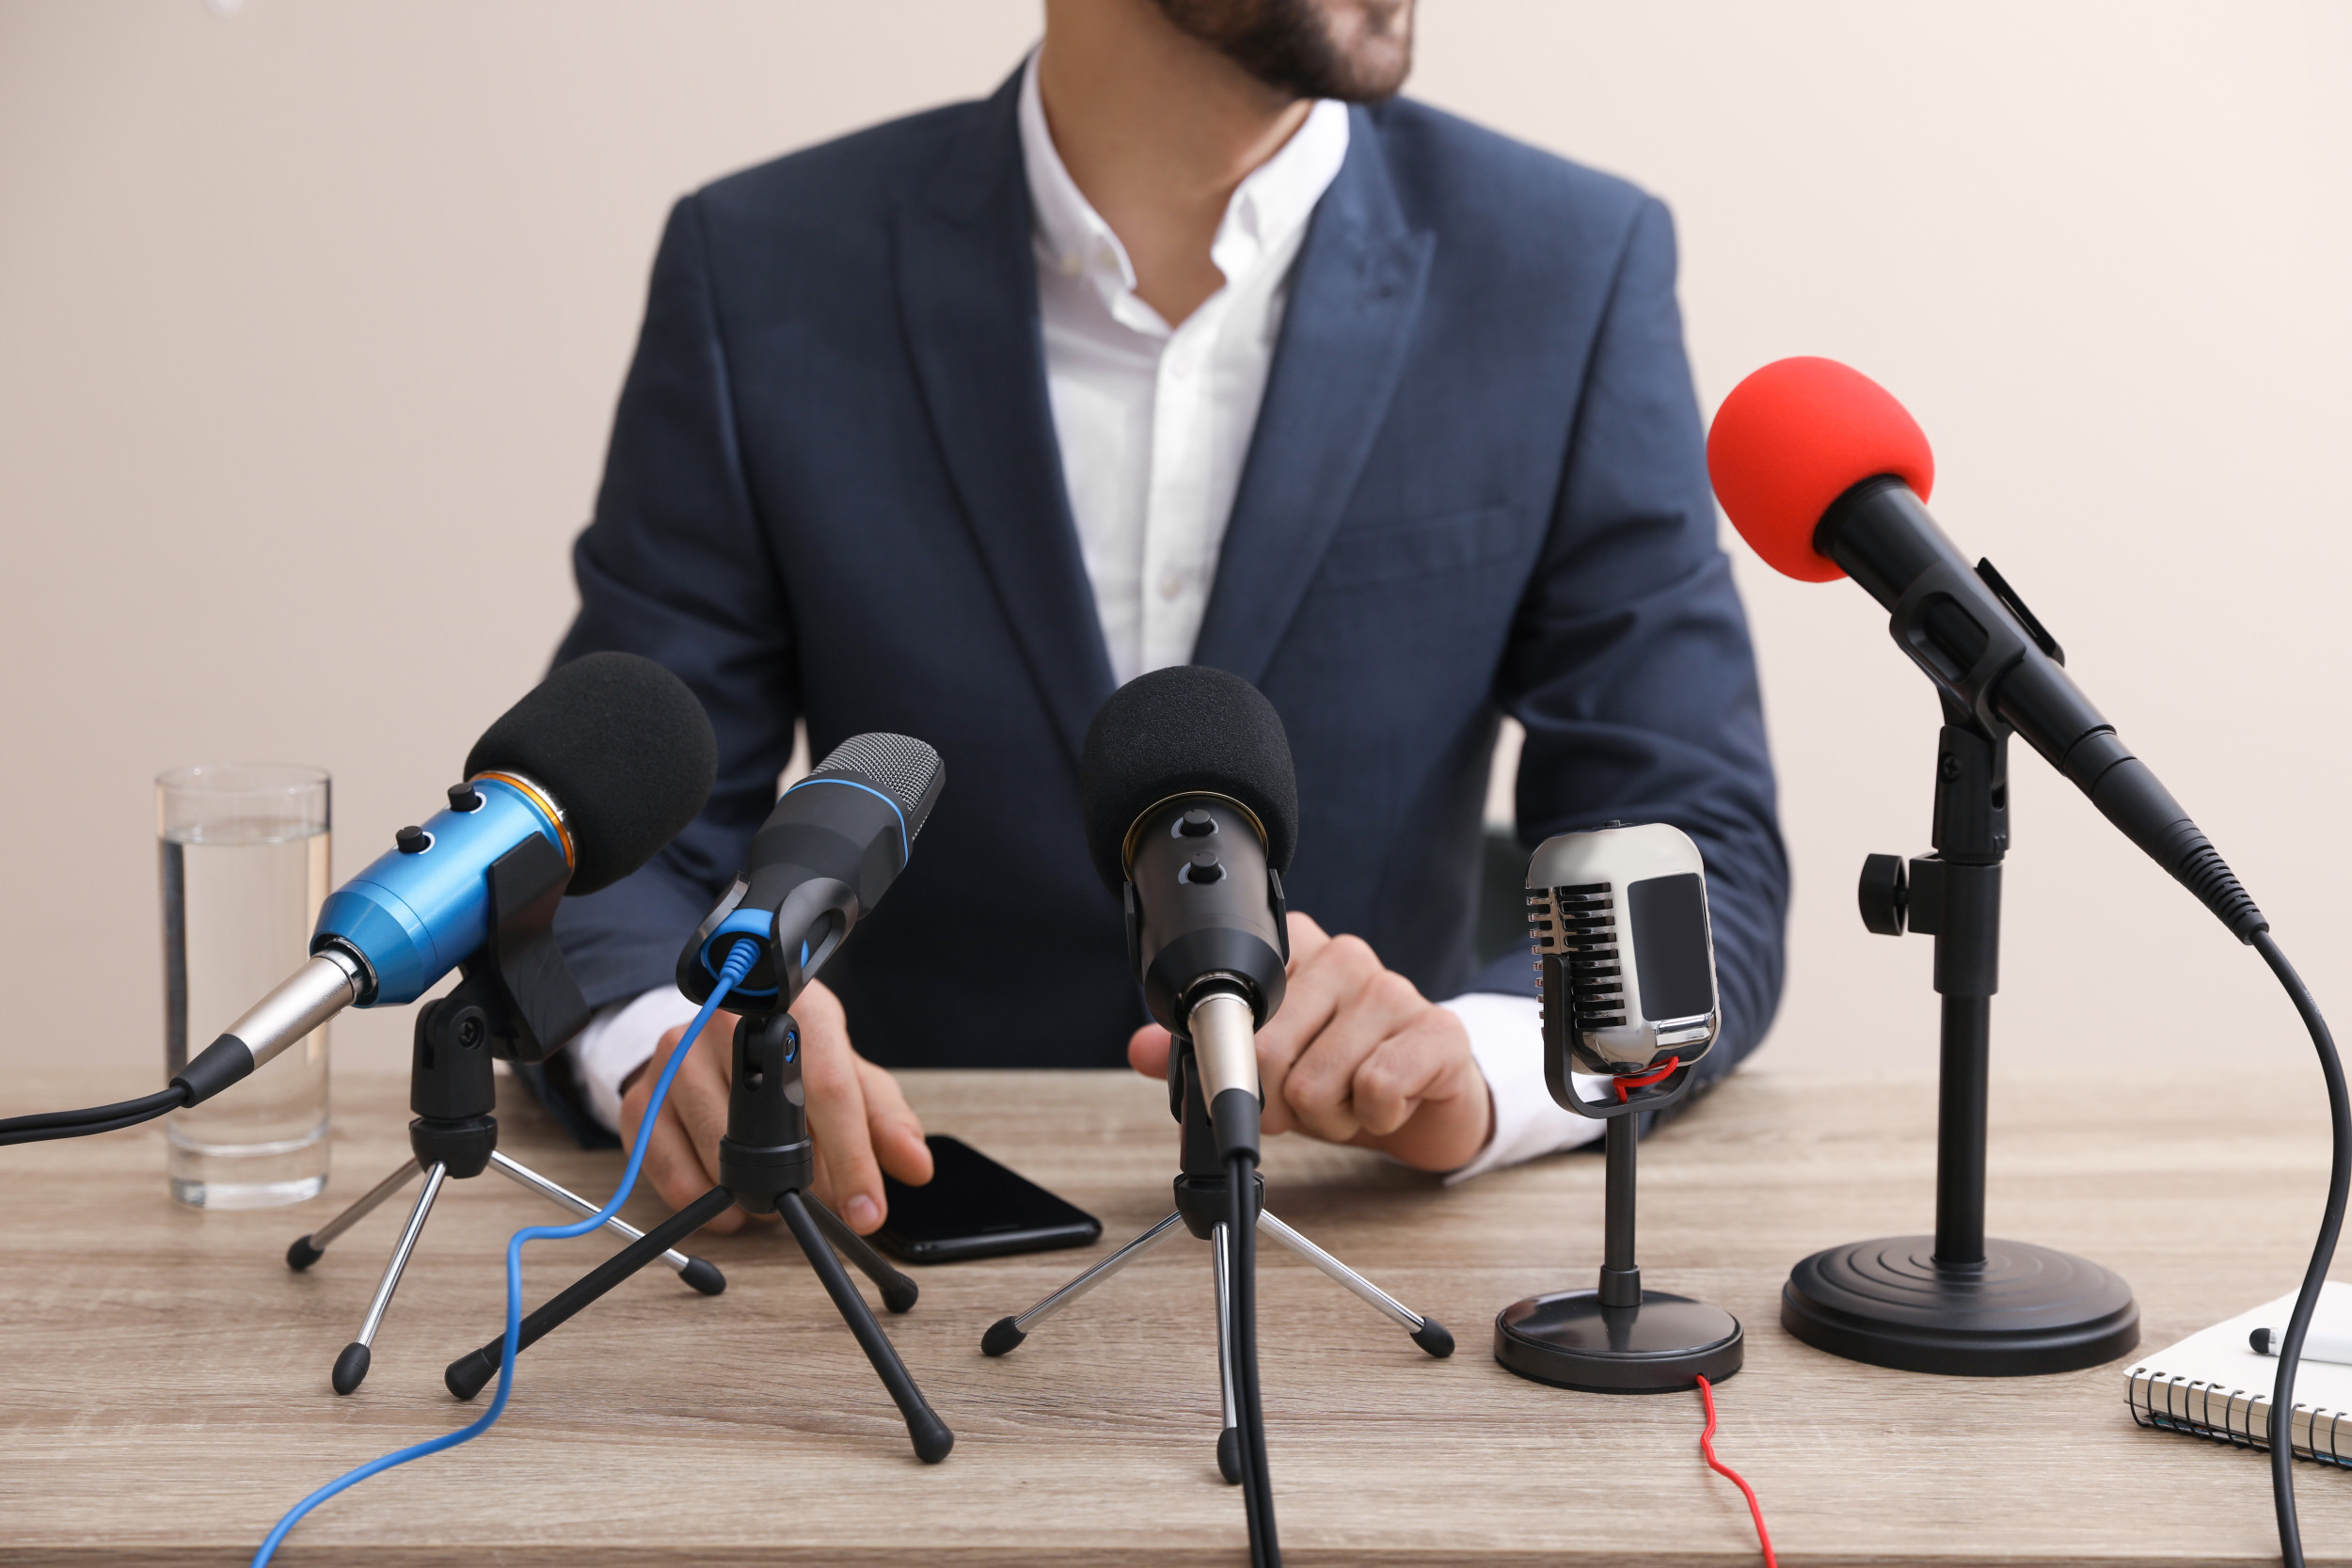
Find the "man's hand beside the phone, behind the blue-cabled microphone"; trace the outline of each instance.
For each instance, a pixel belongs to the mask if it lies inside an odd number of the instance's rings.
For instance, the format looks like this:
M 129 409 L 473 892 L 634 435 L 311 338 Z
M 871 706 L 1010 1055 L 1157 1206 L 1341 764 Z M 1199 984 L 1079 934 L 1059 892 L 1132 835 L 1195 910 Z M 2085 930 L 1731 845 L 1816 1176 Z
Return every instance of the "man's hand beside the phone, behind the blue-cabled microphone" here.
M 920 1187 L 931 1180 L 931 1147 L 922 1121 L 898 1093 L 898 1079 L 849 1046 L 849 1023 L 840 999 L 818 980 L 793 1004 L 800 1023 L 800 1081 L 809 1098 L 809 1135 L 816 1140 L 811 1192 L 842 1215 L 849 1229 L 870 1234 L 882 1225 L 882 1171 Z M 720 1180 L 720 1138 L 727 1135 L 727 1088 L 734 1079 L 734 1013 L 713 1013 L 701 1039 L 670 1081 L 661 1119 L 644 1147 L 644 1173 L 670 1208 L 684 1208 Z M 654 1046 L 654 1058 L 621 1084 L 621 1143 L 637 1135 L 644 1103 L 654 1098 L 661 1067 L 677 1051 L 684 1027 Z M 880 1164 L 877 1164 L 880 1159 Z M 741 1229 L 748 1215 L 729 1208 L 703 1229 Z

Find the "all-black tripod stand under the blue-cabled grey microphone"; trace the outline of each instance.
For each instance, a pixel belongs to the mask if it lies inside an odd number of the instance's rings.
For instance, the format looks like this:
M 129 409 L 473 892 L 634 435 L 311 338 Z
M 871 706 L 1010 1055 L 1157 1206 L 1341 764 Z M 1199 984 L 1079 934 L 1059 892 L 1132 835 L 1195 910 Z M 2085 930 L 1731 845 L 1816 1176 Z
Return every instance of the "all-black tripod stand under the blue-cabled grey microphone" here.
M 593 1267 L 543 1307 L 522 1319 L 515 1354 L 522 1354 L 548 1331 L 569 1321 L 588 1302 L 597 1300 L 616 1284 L 649 1265 L 654 1258 L 673 1255 L 670 1246 L 684 1241 L 696 1229 L 727 1213 L 729 1204 L 743 1213 L 779 1213 L 793 1239 L 807 1255 L 816 1279 L 823 1281 L 833 1307 L 849 1324 L 875 1375 L 889 1389 L 898 1415 L 906 1420 L 908 1441 L 924 1465 L 938 1465 L 955 1448 L 955 1434 L 938 1420 L 924 1401 L 915 1378 L 898 1359 L 898 1349 L 882 1333 L 866 1298 L 842 1269 L 833 1248 L 840 1248 L 882 1291 L 882 1305 L 906 1312 L 915 1305 L 915 1281 L 889 1265 L 866 1237 L 856 1234 L 814 1197 L 807 1197 L 809 1178 L 816 1173 L 816 1150 L 809 1143 L 809 1117 L 800 1086 L 800 1025 L 790 1013 L 767 1018 L 743 1018 L 734 1037 L 734 1086 L 727 1091 L 727 1138 L 720 1140 L 720 1185 L 694 1199 L 675 1215 L 644 1232 L 637 1241 Z M 833 1246 L 826 1246 L 826 1244 Z M 506 1352 L 501 1333 L 489 1345 L 466 1352 L 449 1363 L 442 1382 L 459 1399 L 473 1399 L 499 1375 L 499 1359 Z

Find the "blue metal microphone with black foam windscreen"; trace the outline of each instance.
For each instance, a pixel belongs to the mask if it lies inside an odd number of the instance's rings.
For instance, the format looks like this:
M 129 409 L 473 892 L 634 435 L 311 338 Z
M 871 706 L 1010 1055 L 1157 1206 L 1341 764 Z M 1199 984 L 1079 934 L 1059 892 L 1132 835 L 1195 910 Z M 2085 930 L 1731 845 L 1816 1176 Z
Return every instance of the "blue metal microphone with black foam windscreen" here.
M 710 719 L 682 679 L 635 654 L 557 665 L 482 731 L 449 806 L 327 896 L 310 961 L 172 1086 L 209 1100 L 346 1006 L 414 1001 L 489 940 L 494 863 L 536 839 L 569 867 L 564 896 L 612 886 L 694 820 L 715 776 Z

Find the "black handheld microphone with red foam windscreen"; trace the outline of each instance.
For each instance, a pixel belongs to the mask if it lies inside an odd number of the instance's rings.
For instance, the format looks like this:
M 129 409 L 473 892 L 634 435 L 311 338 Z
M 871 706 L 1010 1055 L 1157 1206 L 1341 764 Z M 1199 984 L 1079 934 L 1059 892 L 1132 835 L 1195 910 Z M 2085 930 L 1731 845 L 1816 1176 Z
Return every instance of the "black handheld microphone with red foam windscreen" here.
M 1773 569 L 1851 576 L 1945 703 L 1990 736 L 2016 731 L 2232 936 L 2270 922 L 2180 802 L 2065 672 L 2065 651 L 1992 562 L 1966 564 L 1929 517 L 1936 458 L 1882 386 L 1835 360 L 1776 360 L 1724 400 L 1708 475 L 1731 524 Z

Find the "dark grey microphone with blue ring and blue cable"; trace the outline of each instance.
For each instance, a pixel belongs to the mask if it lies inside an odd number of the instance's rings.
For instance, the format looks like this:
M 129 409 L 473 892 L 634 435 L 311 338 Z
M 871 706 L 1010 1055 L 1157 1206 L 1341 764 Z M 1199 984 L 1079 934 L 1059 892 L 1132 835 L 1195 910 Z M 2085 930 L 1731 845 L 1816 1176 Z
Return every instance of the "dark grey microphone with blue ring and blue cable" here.
M 753 1018 L 793 1006 L 906 870 L 915 835 L 948 780 L 938 752 L 913 736 L 849 736 L 776 799 L 734 886 L 677 954 L 677 990 L 708 1001 L 739 938 L 760 959 L 729 1004 Z

